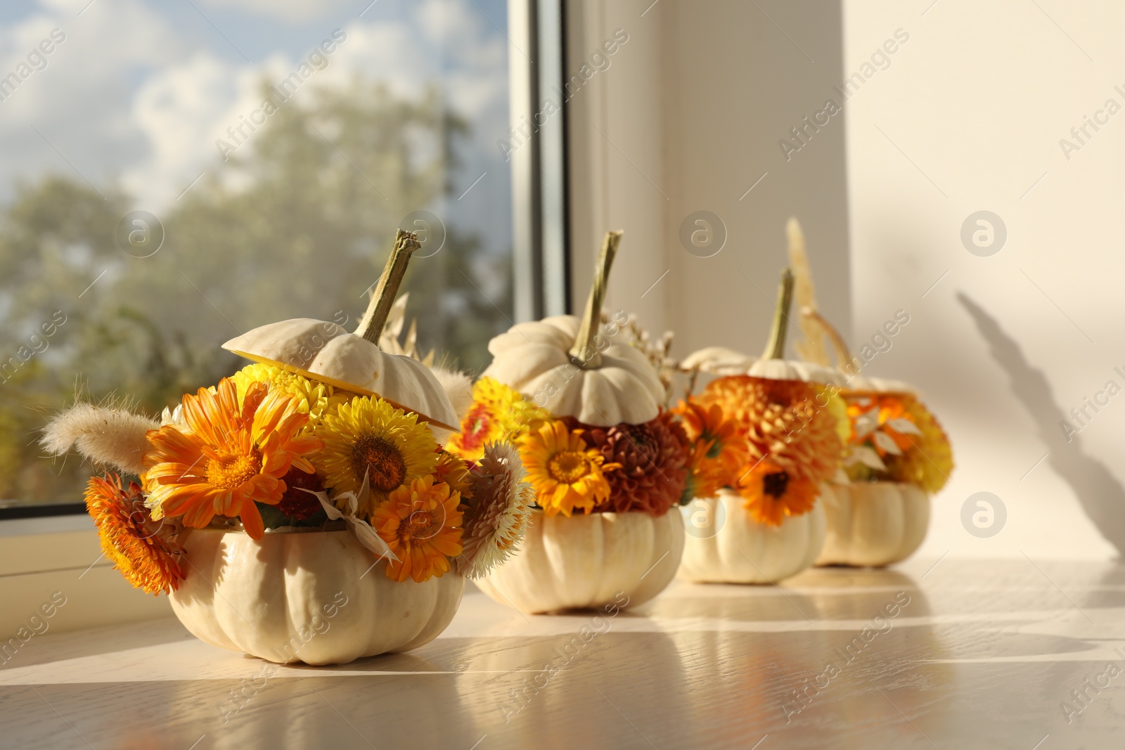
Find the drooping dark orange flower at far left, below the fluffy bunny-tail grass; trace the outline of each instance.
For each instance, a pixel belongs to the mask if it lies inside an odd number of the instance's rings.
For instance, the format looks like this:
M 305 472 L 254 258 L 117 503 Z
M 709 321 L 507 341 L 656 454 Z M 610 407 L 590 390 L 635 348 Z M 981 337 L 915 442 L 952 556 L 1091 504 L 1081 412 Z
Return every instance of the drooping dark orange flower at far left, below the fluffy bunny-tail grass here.
M 136 482 L 122 487 L 116 473 L 90 477 L 86 509 L 98 527 L 101 552 L 134 588 L 153 596 L 174 591 L 183 580 L 183 548 L 170 521 L 152 521 Z

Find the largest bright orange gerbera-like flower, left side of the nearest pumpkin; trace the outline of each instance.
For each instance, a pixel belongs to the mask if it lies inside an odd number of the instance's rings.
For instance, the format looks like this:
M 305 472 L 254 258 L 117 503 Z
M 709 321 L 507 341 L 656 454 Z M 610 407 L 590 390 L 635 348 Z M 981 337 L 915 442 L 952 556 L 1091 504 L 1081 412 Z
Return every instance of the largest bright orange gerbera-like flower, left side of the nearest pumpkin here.
M 145 454 L 148 506 L 155 515 L 183 516 L 187 526 L 202 528 L 215 515 L 238 516 L 251 539 L 266 528 L 254 503 L 277 505 L 286 490 L 281 480 L 290 467 L 312 473 L 305 457 L 324 443 L 297 436 L 308 421 L 292 396 L 254 382 L 238 407 L 230 378 L 216 392 L 200 388 L 183 397 L 188 431 L 172 425 L 148 432 L 154 446 Z

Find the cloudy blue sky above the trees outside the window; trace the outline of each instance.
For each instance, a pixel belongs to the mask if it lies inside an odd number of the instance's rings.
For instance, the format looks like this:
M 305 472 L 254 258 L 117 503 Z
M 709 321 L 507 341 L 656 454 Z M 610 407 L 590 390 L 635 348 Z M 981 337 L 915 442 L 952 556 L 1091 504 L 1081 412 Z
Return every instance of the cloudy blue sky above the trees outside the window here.
M 510 175 L 496 146 L 508 126 L 505 9 L 504 0 L 7 0 L 0 79 L 30 73 L 0 89 L 0 204 L 20 181 L 60 173 L 99 190 L 116 182 L 159 216 L 198 175 L 222 172 L 215 142 L 260 103 L 262 75 L 288 75 L 340 29 L 345 39 L 298 100 L 357 72 L 407 97 L 438 81 L 471 135 L 453 198 L 436 213 L 492 233 L 492 250 L 507 252 Z

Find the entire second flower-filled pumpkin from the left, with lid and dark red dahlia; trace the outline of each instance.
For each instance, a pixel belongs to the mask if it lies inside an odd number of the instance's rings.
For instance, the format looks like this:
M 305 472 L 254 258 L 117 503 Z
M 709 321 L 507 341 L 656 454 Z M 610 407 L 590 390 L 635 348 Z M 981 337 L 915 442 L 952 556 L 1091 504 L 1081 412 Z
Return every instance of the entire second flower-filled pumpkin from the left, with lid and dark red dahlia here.
M 663 410 L 666 386 L 645 351 L 600 327 L 621 240 L 606 234 L 585 314 L 548 317 L 493 338 L 492 365 L 450 450 L 475 460 L 489 440 L 519 450 L 534 489 L 522 549 L 478 585 L 523 612 L 640 604 L 675 575 L 687 436 Z M 601 328 L 601 329 L 600 329 Z M 620 342 L 620 343 L 619 343 Z

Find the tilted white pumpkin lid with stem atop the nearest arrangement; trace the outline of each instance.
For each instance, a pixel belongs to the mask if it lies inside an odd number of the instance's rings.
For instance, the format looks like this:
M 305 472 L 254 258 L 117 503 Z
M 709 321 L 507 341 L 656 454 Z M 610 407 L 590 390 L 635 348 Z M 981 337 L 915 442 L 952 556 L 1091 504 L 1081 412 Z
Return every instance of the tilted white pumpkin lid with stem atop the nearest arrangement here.
M 457 412 L 430 369 L 414 358 L 384 352 L 378 345 L 411 253 L 418 247 L 412 233 L 398 231 L 354 333 L 327 320 L 294 318 L 259 326 L 235 336 L 223 349 L 353 394 L 379 396 L 396 407 L 416 412 L 425 422 L 456 431 Z

